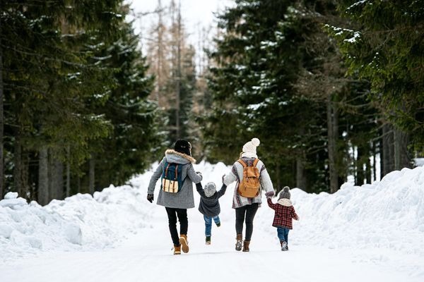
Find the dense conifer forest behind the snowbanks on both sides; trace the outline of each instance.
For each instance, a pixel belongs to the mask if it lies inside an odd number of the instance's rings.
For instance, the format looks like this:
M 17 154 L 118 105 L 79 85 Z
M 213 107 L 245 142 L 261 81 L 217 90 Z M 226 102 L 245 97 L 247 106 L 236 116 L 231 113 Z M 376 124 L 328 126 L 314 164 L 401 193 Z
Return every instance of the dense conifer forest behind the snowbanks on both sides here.
M 424 1 L 236 0 L 199 46 L 177 1 L 152 13 L 141 48 L 122 0 L 0 2 L 0 198 L 121 185 L 179 138 L 232 164 L 258 137 L 307 192 L 423 155 Z

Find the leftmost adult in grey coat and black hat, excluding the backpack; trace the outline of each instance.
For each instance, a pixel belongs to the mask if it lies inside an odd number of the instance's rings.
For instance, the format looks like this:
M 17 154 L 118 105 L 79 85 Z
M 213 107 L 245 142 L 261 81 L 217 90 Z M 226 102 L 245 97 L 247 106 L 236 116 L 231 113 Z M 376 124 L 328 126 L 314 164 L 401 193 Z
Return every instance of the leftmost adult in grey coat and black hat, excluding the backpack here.
M 165 207 L 172 243 L 174 243 L 174 255 L 189 252 L 187 241 L 187 229 L 189 226 L 187 219 L 187 209 L 194 207 L 193 183 L 202 180 L 201 173 L 196 173 L 193 164 L 196 160 L 192 158 L 192 145 L 186 140 L 177 140 L 174 149 L 167 149 L 165 157 L 160 161 L 158 168 L 153 173 L 148 185 L 147 200 L 153 202 L 153 192 L 156 182 L 167 168 L 165 164 L 181 165 L 181 179 L 184 181 L 179 192 L 165 192 L 160 189 L 157 204 Z M 179 236 L 177 231 L 177 218 L 179 221 Z

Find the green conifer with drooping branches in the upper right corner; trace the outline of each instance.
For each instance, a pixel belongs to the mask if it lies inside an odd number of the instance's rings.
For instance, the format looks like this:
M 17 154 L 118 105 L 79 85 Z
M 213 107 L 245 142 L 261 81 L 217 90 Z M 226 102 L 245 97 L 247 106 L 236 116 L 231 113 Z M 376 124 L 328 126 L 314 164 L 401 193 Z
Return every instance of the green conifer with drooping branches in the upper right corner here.
M 384 119 L 396 125 L 399 142 L 411 135 L 413 145 L 423 152 L 423 2 L 339 1 L 350 26 L 333 25 L 331 33 L 343 51 L 349 73 L 370 80 L 370 97 Z M 413 134 L 411 134 L 413 133 Z M 409 166 L 407 153 L 396 142 L 396 169 Z M 411 156 L 409 156 L 411 157 Z M 401 159 L 405 159 L 401 161 Z

